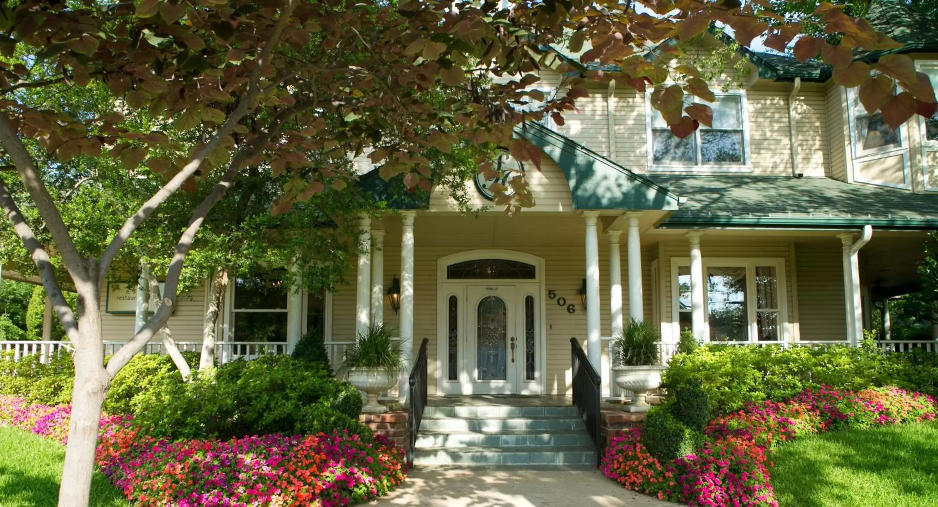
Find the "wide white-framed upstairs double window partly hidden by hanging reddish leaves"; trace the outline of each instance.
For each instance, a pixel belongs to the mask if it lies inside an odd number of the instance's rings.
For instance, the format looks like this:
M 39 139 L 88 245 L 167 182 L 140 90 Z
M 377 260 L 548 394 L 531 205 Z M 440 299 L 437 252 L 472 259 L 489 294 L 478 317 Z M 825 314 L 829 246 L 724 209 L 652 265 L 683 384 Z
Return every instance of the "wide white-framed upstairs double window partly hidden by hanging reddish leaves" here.
M 647 96 L 646 96 L 647 97 Z M 685 97 L 689 105 L 693 97 Z M 749 166 L 749 126 L 746 95 L 730 92 L 717 95 L 707 104 L 713 110 L 713 126 L 701 126 L 681 139 L 673 135 L 661 113 L 648 112 L 648 167 L 659 171 L 739 171 Z

